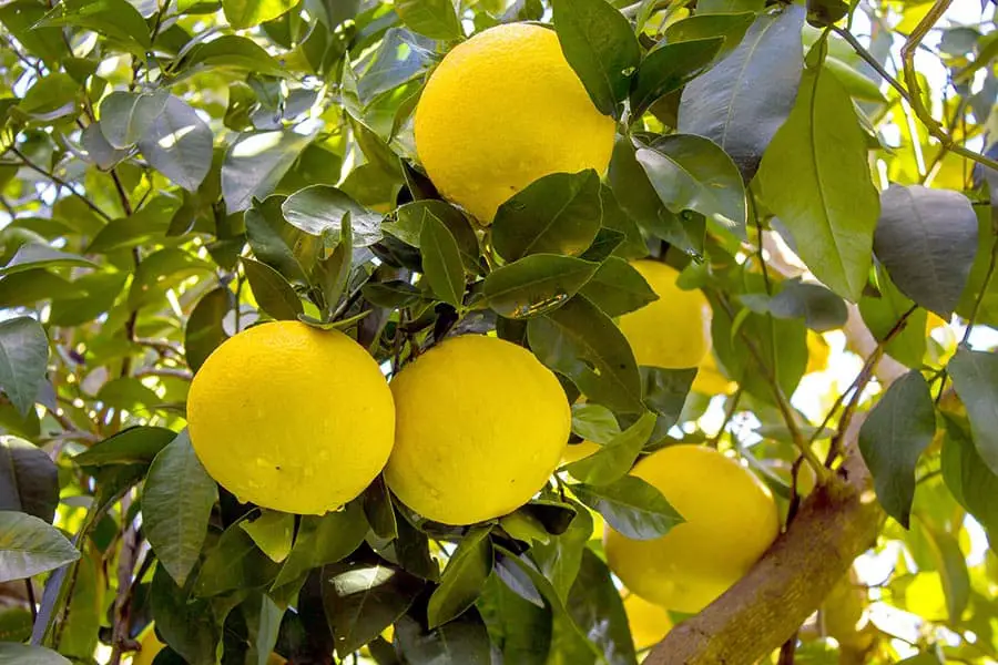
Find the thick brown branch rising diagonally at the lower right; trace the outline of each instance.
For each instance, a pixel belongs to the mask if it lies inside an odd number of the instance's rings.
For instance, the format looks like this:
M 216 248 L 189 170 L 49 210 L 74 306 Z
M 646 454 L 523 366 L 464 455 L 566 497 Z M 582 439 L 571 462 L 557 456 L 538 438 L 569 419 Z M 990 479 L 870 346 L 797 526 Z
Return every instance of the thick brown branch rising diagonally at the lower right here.
M 645 665 L 752 665 L 818 608 L 879 531 L 883 511 L 856 447 L 862 422 L 854 418 L 846 433 L 838 473 L 804 500 L 786 533 L 737 584 L 673 628 Z

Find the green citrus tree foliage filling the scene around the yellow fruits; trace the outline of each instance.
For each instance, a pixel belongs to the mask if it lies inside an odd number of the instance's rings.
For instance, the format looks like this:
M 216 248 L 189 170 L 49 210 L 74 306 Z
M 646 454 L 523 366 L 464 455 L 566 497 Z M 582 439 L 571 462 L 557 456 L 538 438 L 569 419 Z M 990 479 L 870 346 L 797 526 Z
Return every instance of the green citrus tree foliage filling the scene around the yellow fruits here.
M 998 657 L 998 360 L 954 332 L 998 326 L 978 154 L 998 33 L 987 2 L 979 24 L 948 4 L 0 4 L 0 662 L 118 663 L 154 621 L 160 665 L 634 663 L 593 521 L 678 521 L 624 477 L 635 458 L 734 451 L 786 523 L 794 479 L 824 482 L 866 410 L 885 576 L 845 579 L 784 651 Z M 421 171 L 411 116 L 454 44 L 511 21 L 553 24 L 618 137 L 607 174 L 541 178 L 482 226 Z M 614 320 L 654 299 L 628 265 L 644 256 L 707 295 L 722 387 L 634 361 Z M 807 340 L 851 310 L 879 345 L 808 417 Z M 938 317 L 959 325 L 929 336 Z M 389 376 L 495 331 L 584 396 L 573 441 L 605 446 L 469 528 L 380 480 L 323 518 L 242 504 L 198 464 L 184 402 L 264 319 L 343 330 Z M 883 356 L 907 368 L 886 391 Z M 711 398 L 724 424 L 704 431 Z

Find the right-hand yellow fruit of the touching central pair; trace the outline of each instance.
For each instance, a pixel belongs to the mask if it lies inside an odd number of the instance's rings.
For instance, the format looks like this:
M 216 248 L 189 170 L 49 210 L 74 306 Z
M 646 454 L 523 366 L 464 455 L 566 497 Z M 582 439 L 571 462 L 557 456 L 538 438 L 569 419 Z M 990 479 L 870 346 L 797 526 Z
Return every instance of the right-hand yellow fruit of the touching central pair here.
M 480 335 L 445 339 L 390 386 L 396 437 L 385 480 L 425 518 L 471 524 L 505 515 L 561 460 L 568 399 L 522 347 Z

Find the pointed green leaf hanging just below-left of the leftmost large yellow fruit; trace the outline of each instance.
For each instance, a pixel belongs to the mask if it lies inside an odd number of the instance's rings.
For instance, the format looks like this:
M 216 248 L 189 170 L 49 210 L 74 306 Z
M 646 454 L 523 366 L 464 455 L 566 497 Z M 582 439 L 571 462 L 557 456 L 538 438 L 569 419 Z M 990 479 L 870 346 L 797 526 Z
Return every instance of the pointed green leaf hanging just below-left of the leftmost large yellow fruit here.
M 153 460 L 142 492 L 145 536 L 181 586 L 197 563 L 218 488 L 202 467 L 186 430 Z

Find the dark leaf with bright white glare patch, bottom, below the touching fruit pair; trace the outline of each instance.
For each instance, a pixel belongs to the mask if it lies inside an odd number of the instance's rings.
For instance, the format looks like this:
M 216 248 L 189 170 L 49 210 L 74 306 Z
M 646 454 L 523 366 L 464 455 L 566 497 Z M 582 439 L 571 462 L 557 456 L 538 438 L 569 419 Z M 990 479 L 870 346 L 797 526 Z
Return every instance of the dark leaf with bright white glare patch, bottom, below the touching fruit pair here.
M 393 625 L 425 582 L 384 561 L 346 561 L 323 571 L 323 606 L 340 658 Z

